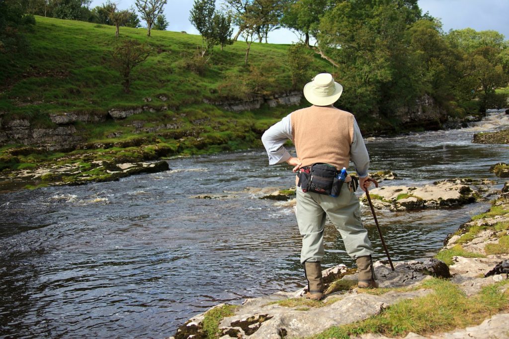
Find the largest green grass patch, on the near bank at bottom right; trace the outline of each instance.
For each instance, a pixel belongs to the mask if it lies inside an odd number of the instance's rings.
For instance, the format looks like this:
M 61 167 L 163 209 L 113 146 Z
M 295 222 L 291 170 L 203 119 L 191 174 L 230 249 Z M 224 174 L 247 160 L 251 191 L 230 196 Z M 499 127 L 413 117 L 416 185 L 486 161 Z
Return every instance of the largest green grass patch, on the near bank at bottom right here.
M 349 338 L 364 333 L 405 336 L 414 332 L 426 335 L 465 328 L 509 309 L 508 285 L 509 281 L 505 280 L 483 288 L 478 295 L 467 297 L 450 281 L 433 278 L 422 284 L 423 288 L 432 289 L 433 293 L 403 300 L 389 306 L 380 315 L 331 327 L 313 338 Z M 501 287 L 505 287 L 505 292 Z

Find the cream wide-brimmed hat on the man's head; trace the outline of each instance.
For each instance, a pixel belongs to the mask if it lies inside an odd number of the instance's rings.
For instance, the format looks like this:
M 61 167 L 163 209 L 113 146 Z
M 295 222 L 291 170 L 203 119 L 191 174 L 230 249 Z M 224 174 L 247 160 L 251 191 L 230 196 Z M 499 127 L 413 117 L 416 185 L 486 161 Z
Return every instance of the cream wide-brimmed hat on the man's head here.
M 332 105 L 341 97 L 343 86 L 335 82 L 329 73 L 317 74 L 304 86 L 304 97 L 317 106 Z

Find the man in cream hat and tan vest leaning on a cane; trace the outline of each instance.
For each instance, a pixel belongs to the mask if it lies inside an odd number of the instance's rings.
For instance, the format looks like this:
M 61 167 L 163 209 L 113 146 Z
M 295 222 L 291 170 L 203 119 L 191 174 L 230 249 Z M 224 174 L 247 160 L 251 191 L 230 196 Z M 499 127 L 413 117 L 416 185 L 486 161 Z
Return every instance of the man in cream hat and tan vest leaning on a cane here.
M 334 176 L 343 167 L 348 168 L 350 159 L 359 176 L 360 187 L 365 191 L 371 184 L 367 174 L 370 159 L 357 122 L 352 114 L 332 105 L 342 92 L 343 87 L 331 74 L 318 74 L 304 86 L 304 97 L 313 106 L 292 112 L 262 136 L 269 164 L 286 161 L 294 166 L 293 172 L 299 173 L 299 186 L 306 185 L 305 178 L 309 178 L 307 173 L 314 164 L 333 168 Z M 297 157 L 291 156 L 283 146 L 287 139 L 293 141 Z M 347 177 L 345 182 L 349 181 L 351 178 Z M 304 265 L 308 281 L 306 296 L 310 299 L 324 297 L 320 262 L 324 256 L 326 216 L 340 232 L 348 255 L 356 261 L 358 287 L 378 287 L 371 259 L 373 248 L 362 225 L 359 200 L 350 189 L 352 186 L 352 182 L 343 185 L 337 197 L 325 195 L 326 190 L 321 188 L 313 191 L 312 188 L 308 190 L 307 185 L 297 187 L 296 216 L 303 236 L 300 262 Z

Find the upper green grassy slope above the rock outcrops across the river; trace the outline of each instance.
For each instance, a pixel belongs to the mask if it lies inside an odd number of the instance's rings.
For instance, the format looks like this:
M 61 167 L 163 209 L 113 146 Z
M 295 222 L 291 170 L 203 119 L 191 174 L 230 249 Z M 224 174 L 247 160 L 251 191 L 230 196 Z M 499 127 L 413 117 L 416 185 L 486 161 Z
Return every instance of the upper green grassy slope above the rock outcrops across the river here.
M 110 108 L 139 106 L 144 98 L 161 95 L 168 98 L 168 107 L 178 110 L 202 99 L 241 98 L 247 93 L 237 81 L 247 77 L 260 82 L 259 93 L 255 94 L 291 89 L 285 45 L 253 43 L 250 67 L 244 66 L 244 42 L 227 46 L 224 51 L 215 47 L 205 69 L 197 74 L 188 68 L 201 45 L 200 36 L 153 31 L 152 37 L 147 37 L 145 29 L 121 27 L 121 36 L 116 39 L 113 26 L 45 17 L 36 17 L 36 21 L 34 32 L 27 35 L 30 52 L 15 58 L 2 55 L 4 60 L 0 59 L 6 65 L 0 80 L 7 80 L 0 109 L 8 115 L 69 110 L 99 114 Z M 147 61 L 134 70 L 130 94 L 123 93 L 122 78 L 112 68 L 111 58 L 114 46 L 126 38 L 147 43 L 153 49 Z M 327 71 L 330 67 L 317 59 L 314 68 Z M 263 78 L 249 76 L 253 72 L 263 73 Z M 237 91 L 228 90 L 232 84 Z M 161 102 L 151 103 L 158 104 Z

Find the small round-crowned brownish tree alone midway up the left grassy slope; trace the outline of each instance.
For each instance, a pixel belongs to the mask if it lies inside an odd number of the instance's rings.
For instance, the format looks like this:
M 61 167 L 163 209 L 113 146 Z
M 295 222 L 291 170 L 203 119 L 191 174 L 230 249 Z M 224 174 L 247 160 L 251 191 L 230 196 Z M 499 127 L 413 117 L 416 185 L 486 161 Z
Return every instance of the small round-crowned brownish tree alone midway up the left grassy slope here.
M 115 47 L 113 65 L 122 75 L 125 93 L 130 92 L 132 69 L 147 60 L 150 51 L 147 45 L 131 39 L 124 40 Z

